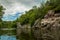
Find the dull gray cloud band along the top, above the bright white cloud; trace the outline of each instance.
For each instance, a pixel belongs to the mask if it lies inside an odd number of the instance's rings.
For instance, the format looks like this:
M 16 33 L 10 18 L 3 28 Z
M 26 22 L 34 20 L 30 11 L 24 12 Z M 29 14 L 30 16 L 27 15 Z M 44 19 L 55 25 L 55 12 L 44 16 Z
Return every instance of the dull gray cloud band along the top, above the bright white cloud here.
M 5 6 L 12 6 L 14 3 L 19 3 L 28 7 L 39 5 L 42 0 L 0 0 Z

